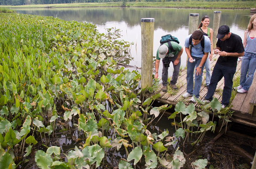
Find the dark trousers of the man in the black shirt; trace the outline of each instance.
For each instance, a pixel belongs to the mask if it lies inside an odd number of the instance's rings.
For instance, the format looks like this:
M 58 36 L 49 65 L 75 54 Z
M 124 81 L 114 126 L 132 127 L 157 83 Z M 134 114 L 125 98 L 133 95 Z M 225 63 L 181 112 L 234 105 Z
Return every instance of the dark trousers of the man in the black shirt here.
M 222 79 L 224 76 L 224 88 L 222 92 L 222 101 L 221 103 L 225 106 L 230 104 L 230 97 L 232 93 L 232 87 L 233 87 L 233 77 L 236 72 L 236 67 L 228 67 L 223 66 L 218 63 L 216 63 L 212 75 L 211 75 L 211 82 L 208 87 L 207 95 L 205 96 L 205 99 L 212 100 L 213 94 L 216 90 L 218 82 Z

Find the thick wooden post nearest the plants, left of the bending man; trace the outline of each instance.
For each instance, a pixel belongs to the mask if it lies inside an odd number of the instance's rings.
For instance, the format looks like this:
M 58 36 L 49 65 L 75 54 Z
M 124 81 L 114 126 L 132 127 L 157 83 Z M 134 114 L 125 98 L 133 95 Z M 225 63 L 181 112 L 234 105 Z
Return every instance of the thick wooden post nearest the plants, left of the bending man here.
M 154 18 L 142 18 L 141 22 L 141 88 L 152 86 Z

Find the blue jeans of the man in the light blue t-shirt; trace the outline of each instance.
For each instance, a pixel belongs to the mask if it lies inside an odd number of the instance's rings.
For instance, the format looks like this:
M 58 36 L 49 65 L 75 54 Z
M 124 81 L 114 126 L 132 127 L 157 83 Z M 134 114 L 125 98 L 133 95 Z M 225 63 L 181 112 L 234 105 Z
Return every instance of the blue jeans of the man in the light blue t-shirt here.
M 200 94 L 200 88 L 201 88 L 201 84 L 202 84 L 202 79 L 203 79 L 203 68 L 204 68 L 204 64 L 202 66 L 202 73 L 201 75 L 198 74 L 198 76 L 196 76 L 196 71 L 195 71 L 195 67 L 197 67 L 202 58 L 198 58 L 198 57 L 193 57 L 193 59 L 196 59 L 196 61 L 194 61 L 193 63 L 190 63 L 188 61 L 187 63 L 187 92 L 189 94 L 195 95 L 196 98 L 199 98 Z M 195 86 L 194 86 L 194 72 L 195 72 Z M 194 86 L 194 90 L 193 90 L 193 86 Z

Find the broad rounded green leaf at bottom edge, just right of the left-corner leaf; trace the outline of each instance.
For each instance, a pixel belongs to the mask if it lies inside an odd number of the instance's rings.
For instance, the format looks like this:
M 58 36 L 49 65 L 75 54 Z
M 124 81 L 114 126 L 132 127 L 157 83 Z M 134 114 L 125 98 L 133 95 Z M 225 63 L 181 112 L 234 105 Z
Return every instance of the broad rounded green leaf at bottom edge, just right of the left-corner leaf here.
M 49 154 L 46 154 L 44 151 L 38 150 L 35 155 L 35 162 L 41 169 L 49 169 L 49 166 L 52 165 L 53 159 Z

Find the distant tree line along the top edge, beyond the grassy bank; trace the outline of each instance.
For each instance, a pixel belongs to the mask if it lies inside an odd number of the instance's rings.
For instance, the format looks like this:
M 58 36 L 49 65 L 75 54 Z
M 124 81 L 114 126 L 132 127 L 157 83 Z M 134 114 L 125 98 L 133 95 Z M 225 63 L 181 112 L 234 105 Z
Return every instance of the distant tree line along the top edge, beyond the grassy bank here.
M 168 2 L 187 0 L 0 0 L 0 5 L 26 5 L 26 4 L 70 4 L 70 3 L 103 3 L 103 2 Z M 190 0 L 189 0 L 190 1 Z M 253 1 L 253 0 L 200 0 L 200 1 Z

